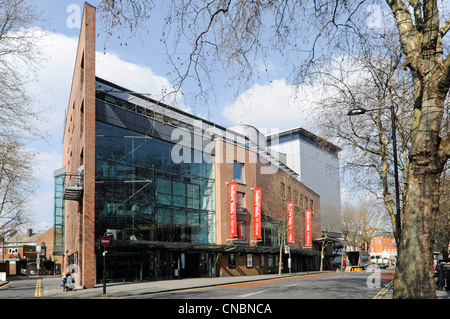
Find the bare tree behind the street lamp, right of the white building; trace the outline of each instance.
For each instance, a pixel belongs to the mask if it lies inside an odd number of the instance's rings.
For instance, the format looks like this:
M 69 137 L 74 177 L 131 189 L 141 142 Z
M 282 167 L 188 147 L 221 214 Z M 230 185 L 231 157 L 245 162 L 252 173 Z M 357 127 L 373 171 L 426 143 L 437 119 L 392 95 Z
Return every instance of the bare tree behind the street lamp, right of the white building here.
M 322 112 L 315 120 L 323 136 L 344 148 L 342 167 L 353 177 L 354 191 L 382 199 L 397 234 L 390 107 L 395 105 L 400 194 L 406 198 L 414 92 L 400 55 L 388 46 L 383 53 L 331 62 L 319 76 L 318 83 L 327 94 L 317 103 Z M 347 115 L 350 108 L 367 113 L 351 117 Z

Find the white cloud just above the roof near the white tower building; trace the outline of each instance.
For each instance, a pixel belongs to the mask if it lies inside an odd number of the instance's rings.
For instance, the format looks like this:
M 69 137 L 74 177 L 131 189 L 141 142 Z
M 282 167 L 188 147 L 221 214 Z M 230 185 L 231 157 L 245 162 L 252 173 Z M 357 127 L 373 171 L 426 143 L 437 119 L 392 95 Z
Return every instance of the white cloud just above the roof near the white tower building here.
M 222 115 L 235 124 L 249 124 L 269 132 L 299 126 L 308 130 L 317 93 L 314 87 L 295 87 L 284 79 L 256 84 L 228 104 Z

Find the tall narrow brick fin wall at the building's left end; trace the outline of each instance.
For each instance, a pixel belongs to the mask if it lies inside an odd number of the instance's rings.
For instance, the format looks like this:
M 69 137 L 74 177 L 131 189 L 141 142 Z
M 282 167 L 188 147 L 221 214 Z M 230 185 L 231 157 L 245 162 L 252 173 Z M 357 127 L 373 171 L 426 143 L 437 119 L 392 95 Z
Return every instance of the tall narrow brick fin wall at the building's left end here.
M 65 203 L 65 265 L 76 254 L 76 279 L 95 284 L 95 7 L 85 4 L 63 140 L 63 166 L 76 172 L 84 166 L 80 202 Z

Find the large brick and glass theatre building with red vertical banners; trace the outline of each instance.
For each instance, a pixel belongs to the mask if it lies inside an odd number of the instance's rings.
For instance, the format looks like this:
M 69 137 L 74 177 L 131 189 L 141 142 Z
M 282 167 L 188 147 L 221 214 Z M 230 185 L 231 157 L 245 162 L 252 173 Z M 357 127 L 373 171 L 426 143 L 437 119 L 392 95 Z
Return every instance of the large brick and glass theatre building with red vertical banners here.
M 55 216 L 64 271 L 75 270 L 78 284 L 102 280 L 104 251 L 108 281 L 318 269 L 310 238 L 321 236 L 320 196 L 263 134 L 222 127 L 96 77 L 90 5 L 75 63 Z

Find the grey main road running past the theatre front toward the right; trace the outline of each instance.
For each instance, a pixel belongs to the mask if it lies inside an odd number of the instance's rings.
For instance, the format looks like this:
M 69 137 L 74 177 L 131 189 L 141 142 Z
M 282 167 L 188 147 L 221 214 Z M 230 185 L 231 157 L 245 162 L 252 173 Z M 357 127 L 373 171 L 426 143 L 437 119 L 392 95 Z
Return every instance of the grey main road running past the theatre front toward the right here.
M 134 299 L 373 299 L 394 272 L 321 273 L 132 296 Z

